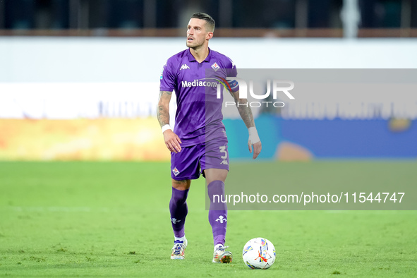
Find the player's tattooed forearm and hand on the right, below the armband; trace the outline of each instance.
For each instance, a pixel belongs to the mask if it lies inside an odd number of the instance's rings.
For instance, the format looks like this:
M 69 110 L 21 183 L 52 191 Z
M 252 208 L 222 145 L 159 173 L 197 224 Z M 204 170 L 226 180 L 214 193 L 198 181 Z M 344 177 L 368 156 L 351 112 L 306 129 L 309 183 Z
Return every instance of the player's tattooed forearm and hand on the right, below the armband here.
M 260 151 L 262 150 L 262 143 L 259 140 L 258 137 L 258 131 L 256 131 L 255 128 L 255 121 L 253 120 L 253 114 L 252 109 L 250 109 L 250 106 L 248 104 L 248 99 L 240 99 L 239 98 L 239 91 L 231 92 L 231 95 L 234 97 L 234 100 L 236 102 L 236 107 L 238 107 L 239 114 L 241 115 L 241 118 L 243 119 L 243 122 L 245 123 L 246 127 L 249 130 L 249 141 L 248 141 L 248 148 L 249 152 L 252 153 L 252 146 L 253 146 L 253 159 L 258 157 L 260 154 Z M 254 133 L 254 134 L 251 134 Z M 255 138 L 258 138 L 258 142 L 253 143 L 251 139 L 253 140 L 252 136 L 255 136 Z

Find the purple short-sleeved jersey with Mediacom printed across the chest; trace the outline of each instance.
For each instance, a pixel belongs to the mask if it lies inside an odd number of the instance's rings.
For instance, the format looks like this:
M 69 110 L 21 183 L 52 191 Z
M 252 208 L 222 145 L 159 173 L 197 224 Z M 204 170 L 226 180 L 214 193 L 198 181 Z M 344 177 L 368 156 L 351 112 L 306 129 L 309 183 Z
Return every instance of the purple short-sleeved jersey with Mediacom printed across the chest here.
M 231 59 L 211 49 L 201 64 L 195 61 L 190 49 L 167 60 L 159 88 L 168 92 L 175 90 L 177 110 L 174 133 L 181 139 L 183 147 L 225 136 L 223 95 L 217 98 L 217 85 L 227 76 L 236 75 L 236 66 Z

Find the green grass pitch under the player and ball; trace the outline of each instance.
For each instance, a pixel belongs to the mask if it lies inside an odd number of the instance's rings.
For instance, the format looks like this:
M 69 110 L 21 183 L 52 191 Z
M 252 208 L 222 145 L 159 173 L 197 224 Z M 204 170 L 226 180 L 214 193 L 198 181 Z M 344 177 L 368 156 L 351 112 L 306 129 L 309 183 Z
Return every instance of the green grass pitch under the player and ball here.
M 271 163 L 289 173 L 282 184 L 309 165 L 327 177 L 355 166 L 370 183 L 369 169 L 389 179 L 400 166 L 398 183 L 417 181 L 413 161 Z M 170 195 L 169 163 L 1 162 L 0 277 L 417 275 L 416 211 L 229 211 L 234 260 L 213 264 L 203 178 L 188 197 L 186 260 L 170 260 Z M 241 259 L 258 236 L 277 250 L 269 270 L 250 270 Z

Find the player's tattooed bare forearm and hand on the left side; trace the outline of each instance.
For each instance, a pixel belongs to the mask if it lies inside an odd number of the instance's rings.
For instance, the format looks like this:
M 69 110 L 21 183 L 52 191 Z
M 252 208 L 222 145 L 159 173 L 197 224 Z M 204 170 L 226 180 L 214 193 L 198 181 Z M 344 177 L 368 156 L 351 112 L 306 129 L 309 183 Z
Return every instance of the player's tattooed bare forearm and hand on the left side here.
M 157 107 L 157 118 L 159 121 L 159 126 L 169 125 L 169 101 L 171 100 L 172 92 L 160 91 L 159 100 Z M 180 152 L 181 151 L 181 139 L 176 135 L 171 128 L 168 128 L 164 131 L 164 141 L 165 145 L 170 152 Z

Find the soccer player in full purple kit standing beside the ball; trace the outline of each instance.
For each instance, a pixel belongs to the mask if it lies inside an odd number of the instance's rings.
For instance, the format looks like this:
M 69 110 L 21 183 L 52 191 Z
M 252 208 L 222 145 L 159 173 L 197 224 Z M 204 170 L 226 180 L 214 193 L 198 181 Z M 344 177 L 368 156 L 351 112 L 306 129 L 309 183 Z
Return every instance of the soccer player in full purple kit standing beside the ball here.
M 224 195 L 224 181 L 229 171 L 227 137 L 222 123 L 223 96 L 217 98 L 219 82 L 213 80 L 236 77 L 237 71 L 231 59 L 208 47 L 213 31 L 214 20 L 211 16 L 194 13 L 187 27 L 188 49 L 167 60 L 160 80 L 157 117 L 165 145 L 171 152 L 172 195 L 169 211 L 174 230 L 171 259 L 184 258 L 187 247 L 184 233 L 188 213 L 186 200 L 191 180 L 198 179 L 200 174 L 205 176 L 210 198 L 209 222 L 214 241 L 212 262 L 231 262 L 232 259 L 231 253 L 225 250 L 228 246 L 224 246 L 227 207 L 225 203 L 214 203 L 213 200 L 213 195 Z M 210 69 L 216 78 L 207 78 L 206 69 Z M 229 80 L 227 86 L 248 128 L 248 148 L 249 152 L 253 148 L 255 159 L 262 145 L 252 111 L 247 99 L 238 98 L 236 80 Z M 169 101 L 173 90 L 177 102 L 174 131 L 169 126 Z

